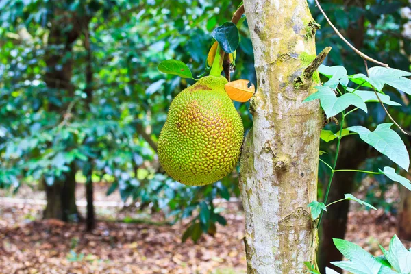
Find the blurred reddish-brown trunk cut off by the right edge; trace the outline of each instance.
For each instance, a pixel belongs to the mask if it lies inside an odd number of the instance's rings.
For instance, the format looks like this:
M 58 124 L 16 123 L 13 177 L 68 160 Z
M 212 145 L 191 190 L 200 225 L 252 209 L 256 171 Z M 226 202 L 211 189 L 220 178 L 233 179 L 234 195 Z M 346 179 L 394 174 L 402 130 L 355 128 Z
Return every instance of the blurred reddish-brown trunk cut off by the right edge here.
M 398 236 L 402 240 L 411 240 L 411 192 L 400 186 L 398 212 Z

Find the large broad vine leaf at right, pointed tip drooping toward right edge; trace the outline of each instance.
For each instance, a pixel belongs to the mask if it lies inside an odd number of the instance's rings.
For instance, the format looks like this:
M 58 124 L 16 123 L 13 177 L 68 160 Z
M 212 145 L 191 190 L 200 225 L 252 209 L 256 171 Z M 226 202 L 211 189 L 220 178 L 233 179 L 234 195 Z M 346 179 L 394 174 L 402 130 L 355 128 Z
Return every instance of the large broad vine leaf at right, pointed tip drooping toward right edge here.
M 373 132 L 361 126 L 348 127 L 347 129 L 350 132 L 360 134 L 360 138 L 364 142 L 373 146 L 377 151 L 383 153 L 390 160 L 408 171 L 410 156 L 403 140 L 401 140 L 397 132 L 390 129 L 391 125 L 393 123 L 379 124 Z

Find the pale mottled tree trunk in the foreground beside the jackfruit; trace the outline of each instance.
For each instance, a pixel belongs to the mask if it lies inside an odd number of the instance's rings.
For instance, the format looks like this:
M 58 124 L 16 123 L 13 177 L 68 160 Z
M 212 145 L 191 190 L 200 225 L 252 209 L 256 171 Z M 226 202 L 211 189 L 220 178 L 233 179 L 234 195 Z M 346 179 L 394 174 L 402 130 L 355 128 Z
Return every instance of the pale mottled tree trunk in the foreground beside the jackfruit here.
M 258 84 L 240 160 L 247 269 L 304 273 L 316 249 L 307 206 L 316 200 L 322 127 L 319 103 L 303 103 L 319 84 L 317 73 L 304 77 L 316 24 L 306 0 L 244 2 Z

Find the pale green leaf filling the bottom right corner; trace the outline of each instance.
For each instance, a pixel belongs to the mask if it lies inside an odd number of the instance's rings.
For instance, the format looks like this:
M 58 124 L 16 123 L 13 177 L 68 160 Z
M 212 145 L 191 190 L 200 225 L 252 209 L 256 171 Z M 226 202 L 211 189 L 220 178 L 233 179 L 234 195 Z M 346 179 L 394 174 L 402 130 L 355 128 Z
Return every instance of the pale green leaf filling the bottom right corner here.
M 411 273 L 411 252 L 403 246 L 397 235 L 391 239 L 389 251 L 386 251 L 381 245 L 379 247 L 396 271 Z

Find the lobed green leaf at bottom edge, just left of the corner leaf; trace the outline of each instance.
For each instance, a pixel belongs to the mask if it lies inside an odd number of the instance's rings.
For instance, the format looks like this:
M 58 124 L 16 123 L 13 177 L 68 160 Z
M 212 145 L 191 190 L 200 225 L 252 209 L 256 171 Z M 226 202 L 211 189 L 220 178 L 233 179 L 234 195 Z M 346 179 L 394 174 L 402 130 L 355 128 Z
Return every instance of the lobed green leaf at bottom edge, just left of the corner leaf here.
M 331 262 L 335 266 L 354 274 L 377 274 L 382 264 L 370 253 L 347 240 L 333 238 L 334 245 L 349 261 Z

